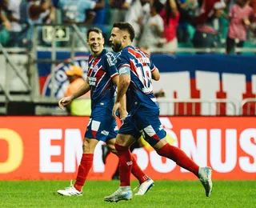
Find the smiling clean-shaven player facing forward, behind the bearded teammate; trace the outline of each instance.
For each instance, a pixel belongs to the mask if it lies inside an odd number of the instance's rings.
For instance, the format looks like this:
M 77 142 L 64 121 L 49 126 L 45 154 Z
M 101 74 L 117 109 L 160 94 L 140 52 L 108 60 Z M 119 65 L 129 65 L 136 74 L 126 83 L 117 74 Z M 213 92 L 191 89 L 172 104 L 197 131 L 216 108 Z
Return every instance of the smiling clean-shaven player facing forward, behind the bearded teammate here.
M 68 97 L 62 98 L 58 105 L 63 108 L 75 98 L 86 94 L 90 90 L 91 114 L 90 122 L 87 126 L 85 138 L 83 141 L 83 154 L 81 163 L 78 167 L 78 175 L 74 186 L 72 182 L 70 187 L 64 190 L 58 190 L 58 194 L 65 196 L 82 195 L 82 187 L 90 171 L 94 158 L 94 149 L 99 141 L 106 142 L 112 152 L 117 154 L 114 148 L 114 142 L 118 133 L 118 126 L 112 117 L 114 106 L 114 94 L 118 85 L 118 71 L 114 64 L 114 55 L 104 49 L 104 38 L 102 30 L 92 28 L 87 31 L 87 43 L 90 46 L 92 54 L 89 58 L 88 74 L 86 82 L 74 93 Z M 123 104 L 120 108 L 120 117 L 126 116 L 126 101 L 122 99 Z M 138 181 L 138 195 L 146 193 L 150 187 L 154 186 L 152 179 L 146 176 L 138 166 L 135 158 L 132 158 L 134 164 L 132 173 Z

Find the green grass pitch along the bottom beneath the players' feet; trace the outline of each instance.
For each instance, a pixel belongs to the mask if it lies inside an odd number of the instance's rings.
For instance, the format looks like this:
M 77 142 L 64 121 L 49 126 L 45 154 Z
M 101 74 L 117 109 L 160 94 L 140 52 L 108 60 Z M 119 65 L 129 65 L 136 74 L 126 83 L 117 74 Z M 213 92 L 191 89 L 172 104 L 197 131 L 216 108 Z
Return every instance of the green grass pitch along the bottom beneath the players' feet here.
M 206 198 L 199 181 L 155 181 L 144 196 L 131 201 L 104 202 L 118 189 L 118 181 L 88 181 L 82 197 L 64 197 L 58 189 L 67 181 L 0 181 L 0 207 L 256 207 L 256 181 L 214 181 L 214 191 Z M 138 182 L 132 182 L 132 188 Z

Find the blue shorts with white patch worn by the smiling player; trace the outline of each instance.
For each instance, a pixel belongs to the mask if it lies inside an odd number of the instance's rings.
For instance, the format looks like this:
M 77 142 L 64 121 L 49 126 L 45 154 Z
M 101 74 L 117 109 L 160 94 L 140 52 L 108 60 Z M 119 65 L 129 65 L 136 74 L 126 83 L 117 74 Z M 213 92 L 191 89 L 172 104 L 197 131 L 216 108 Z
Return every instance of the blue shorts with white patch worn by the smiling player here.
M 118 126 L 112 117 L 112 111 L 104 107 L 94 108 L 90 114 L 85 137 L 106 142 L 111 138 L 116 138 L 117 134 Z

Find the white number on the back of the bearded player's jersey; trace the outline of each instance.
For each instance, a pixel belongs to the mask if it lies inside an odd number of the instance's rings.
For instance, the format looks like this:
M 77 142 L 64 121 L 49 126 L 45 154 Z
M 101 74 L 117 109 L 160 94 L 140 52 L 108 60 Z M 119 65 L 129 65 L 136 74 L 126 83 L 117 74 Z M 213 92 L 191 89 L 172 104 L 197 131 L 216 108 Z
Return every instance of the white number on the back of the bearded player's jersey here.
M 136 68 L 138 78 L 142 82 L 143 88 L 142 91 L 143 93 L 149 94 L 153 91 L 153 86 L 151 82 L 151 71 L 149 66 L 138 66 Z

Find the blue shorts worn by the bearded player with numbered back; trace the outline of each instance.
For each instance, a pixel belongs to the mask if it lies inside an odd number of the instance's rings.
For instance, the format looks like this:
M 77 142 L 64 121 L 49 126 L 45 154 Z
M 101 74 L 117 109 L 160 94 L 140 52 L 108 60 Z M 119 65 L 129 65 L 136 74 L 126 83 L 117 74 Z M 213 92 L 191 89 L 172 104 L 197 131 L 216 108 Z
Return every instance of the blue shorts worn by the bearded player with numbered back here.
M 159 120 L 159 110 L 140 106 L 133 115 L 124 120 L 118 134 L 130 134 L 138 139 L 142 135 L 150 146 L 156 145 L 166 137 L 166 131 Z

